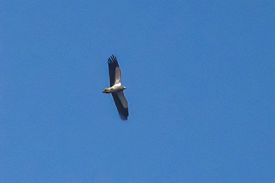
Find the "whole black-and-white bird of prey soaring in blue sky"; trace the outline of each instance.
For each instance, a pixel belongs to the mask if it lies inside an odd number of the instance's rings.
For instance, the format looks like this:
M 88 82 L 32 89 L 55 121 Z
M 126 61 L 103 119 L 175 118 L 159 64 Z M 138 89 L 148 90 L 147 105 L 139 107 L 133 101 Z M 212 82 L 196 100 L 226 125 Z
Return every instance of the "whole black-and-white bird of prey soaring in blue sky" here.
M 125 121 L 128 119 L 128 103 L 124 96 L 125 86 L 121 85 L 121 72 L 116 60 L 116 56 L 111 55 L 108 59 L 110 87 L 105 88 L 102 93 L 111 93 L 116 104 L 116 109 L 120 118 Z

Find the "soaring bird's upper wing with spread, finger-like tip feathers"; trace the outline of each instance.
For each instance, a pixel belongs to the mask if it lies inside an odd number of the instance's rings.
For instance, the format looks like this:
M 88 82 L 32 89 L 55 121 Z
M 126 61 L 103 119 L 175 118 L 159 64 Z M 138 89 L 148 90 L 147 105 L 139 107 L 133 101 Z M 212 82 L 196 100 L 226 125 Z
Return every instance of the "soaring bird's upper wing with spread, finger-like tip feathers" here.
M 111 55 L 108 59 L 110 87 L 113 85 L 121 85 L 121 72 L 116 60 L 116 56 Z

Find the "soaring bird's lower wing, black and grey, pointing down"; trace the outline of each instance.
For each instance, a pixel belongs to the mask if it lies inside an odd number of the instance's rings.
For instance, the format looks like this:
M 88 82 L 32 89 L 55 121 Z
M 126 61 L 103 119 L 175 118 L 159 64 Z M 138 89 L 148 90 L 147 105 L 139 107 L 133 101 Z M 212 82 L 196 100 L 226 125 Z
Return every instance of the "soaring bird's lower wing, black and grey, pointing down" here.
M 113 99 L 115 101 L 116 109 L 117 109 L 117 111 L 120 115 L 120 118 L 124 121 L 127 120 L 128 116 L 129 116 L 128 103 L 127 103 L 127 100 L 124 96 L 123 91 L 113 92 L 112 96 L 113 96 Z

